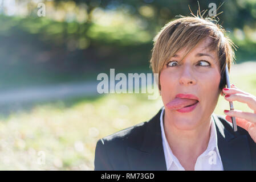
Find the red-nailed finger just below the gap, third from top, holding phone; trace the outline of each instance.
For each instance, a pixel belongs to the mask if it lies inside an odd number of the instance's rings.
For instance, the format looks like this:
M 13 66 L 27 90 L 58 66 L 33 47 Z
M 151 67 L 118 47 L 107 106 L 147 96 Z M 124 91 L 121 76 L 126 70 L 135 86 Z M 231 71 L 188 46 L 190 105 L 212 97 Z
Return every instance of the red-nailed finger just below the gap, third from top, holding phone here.
M 229 115 L 230 117 L 233 116 L 235 118 L 243 118 L 249 122 L 256 123 L 256 114 L 255 113 L 244 112 L 241 110 L 225 110 L 224 114 Z

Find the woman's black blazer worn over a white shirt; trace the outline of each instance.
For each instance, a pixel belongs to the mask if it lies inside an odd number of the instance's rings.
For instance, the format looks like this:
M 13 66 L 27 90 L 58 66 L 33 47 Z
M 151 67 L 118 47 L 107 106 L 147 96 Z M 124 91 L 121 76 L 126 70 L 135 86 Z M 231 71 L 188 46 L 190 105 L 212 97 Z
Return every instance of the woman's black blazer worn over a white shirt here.
M 160 114 L 151 120 L 99 139 L 95 170 L 165 171 Z M 246 130 L 232 130 L 224 116 L 213 113 L 224 170 L 256 170 L 256 144 Z

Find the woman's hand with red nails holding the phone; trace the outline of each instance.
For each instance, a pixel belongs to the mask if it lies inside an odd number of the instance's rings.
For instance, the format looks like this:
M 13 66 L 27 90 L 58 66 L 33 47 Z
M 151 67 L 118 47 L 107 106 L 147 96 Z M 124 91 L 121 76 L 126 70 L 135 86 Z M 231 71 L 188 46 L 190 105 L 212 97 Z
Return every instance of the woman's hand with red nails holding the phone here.
M 247 104 L 254 113 L 244 112 L 241 110 L 227 110 L 226 120 L 232 122 L 231 117 L 234 116 L 237 121 L 237 126 L 242 127 L 250 134 L 251 138 L 256 143 L 256 97 L 250 93 L 238 89 L 236 86 L 231 85 L 231 88 L 224 88 L 222 90 L 227 101 L 239 101 Z

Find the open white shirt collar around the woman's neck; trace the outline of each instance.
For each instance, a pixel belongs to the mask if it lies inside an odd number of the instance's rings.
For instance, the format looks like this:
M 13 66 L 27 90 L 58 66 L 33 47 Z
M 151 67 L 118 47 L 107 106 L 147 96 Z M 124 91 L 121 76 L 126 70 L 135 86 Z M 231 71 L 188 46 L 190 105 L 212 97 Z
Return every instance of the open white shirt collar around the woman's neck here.
M 161 135 L 162 135 L 162 145 L 164 147 L 164 154 L 165 154 L 165 162 L 167 170 L 170 168 L 170 165 L 174 162 L 177 167 L 184 169 L 176 156 L 173 155 L 172 150 L 167 142 L 165 132 L 164 132 L 164 124 L 163 124 L 163 115 L 164 115 L 164 107 L 162 107 L 161 115 L 160 115 L 160 125 L 161 125 Z M 210 151 L 216 150 L 218 157 L 220 158 L 220 154 L 218 151 L 218 144 L 217 144 L 217 131 L 216 126 L 214 123 L 213 115 L 211 115 L 211 124 L 210 124 L 210 139 L 208 143 L 208 147 L 206 148 L 203 154 L 208 155 Z

